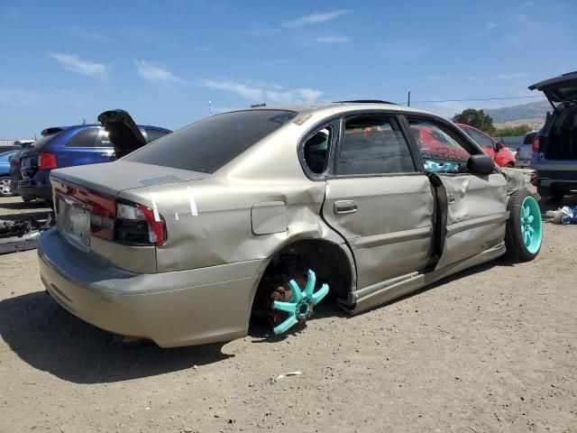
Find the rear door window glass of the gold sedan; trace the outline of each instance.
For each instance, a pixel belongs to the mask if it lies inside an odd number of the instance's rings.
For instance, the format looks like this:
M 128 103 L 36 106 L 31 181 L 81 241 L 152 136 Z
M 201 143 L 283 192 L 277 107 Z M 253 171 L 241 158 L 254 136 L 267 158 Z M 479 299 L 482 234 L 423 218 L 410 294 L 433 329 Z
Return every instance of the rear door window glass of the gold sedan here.
M 394 117 L 358 115 L 346 120 L 336 174 L 412 171 L 415 165 Z

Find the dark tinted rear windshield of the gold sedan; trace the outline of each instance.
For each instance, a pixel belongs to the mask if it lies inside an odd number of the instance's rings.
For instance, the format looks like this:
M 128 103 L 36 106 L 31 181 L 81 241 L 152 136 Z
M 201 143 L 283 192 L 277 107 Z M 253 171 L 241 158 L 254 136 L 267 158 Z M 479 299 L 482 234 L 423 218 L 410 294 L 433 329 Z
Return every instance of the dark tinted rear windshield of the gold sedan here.
M 214 173 L 287 124 L 292 111 L 248 110 L 206 117 L 131 153 L 126 161 Z

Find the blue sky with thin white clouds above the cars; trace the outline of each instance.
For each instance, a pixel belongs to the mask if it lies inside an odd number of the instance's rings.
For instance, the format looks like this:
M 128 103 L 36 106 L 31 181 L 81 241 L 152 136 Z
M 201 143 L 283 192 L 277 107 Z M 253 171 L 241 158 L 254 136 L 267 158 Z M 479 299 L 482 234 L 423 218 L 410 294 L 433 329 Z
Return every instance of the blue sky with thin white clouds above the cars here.
M 577 69 L 577 2 L 0 0 L 0 139 L 111 108 L 176 129 L 253 103 L 351 98 L 449 116 Z

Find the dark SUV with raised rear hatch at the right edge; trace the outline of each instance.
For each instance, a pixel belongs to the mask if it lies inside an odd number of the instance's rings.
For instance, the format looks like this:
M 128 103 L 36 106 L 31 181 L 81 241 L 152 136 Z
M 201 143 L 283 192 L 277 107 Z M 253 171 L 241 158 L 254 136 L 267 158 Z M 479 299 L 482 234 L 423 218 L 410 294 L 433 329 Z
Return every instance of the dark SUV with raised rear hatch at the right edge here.
M 537 172 L 538 192 L 560 203 L 577 190 L 577 72 L 545 79 L 530 90 L 540 90 L 553 110 L 534 135 L 530 167 Z

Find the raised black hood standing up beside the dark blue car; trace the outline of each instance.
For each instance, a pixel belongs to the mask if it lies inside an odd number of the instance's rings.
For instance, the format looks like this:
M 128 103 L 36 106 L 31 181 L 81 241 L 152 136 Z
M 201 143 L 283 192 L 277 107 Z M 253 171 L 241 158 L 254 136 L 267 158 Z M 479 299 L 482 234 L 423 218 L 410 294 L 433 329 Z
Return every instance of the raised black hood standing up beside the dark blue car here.
M 124 110 L 108 110 L 98 115 L 98 122 L 108 132 L 108 138 L 114 144 L 116 159 L 140 149 L 146 144 L 141 130 L 133 118 Z

